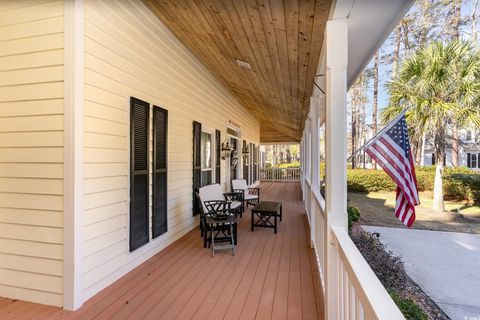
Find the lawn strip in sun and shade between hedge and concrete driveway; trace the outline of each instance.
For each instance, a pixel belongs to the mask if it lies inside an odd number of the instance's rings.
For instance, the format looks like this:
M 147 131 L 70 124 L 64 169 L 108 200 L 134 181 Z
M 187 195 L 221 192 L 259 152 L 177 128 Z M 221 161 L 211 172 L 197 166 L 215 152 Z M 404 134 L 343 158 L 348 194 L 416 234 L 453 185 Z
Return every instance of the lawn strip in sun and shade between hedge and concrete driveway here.
M 403 227 L 394 215 L 394 192 L 348 193 L 349 204 L 360 209 L 360 223 L 365 225 Z M 445 201 L 448 212 L 431 210 L 430 192 L 420 194 L 414 229 L 455 231 L 480 234 L 480 207 L 461 201 Z M 457 211 L 458 210 L 458 211 Z M 457 212 L 455 212 L 457 211 Z

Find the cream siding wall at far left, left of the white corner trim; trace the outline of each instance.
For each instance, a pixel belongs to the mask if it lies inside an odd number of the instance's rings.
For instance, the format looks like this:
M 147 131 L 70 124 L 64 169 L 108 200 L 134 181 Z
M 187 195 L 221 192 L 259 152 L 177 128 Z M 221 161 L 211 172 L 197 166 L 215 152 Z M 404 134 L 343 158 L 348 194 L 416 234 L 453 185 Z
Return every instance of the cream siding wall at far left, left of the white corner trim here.
M 0 297 L 62 306 L 63 1 L 0 1 Z

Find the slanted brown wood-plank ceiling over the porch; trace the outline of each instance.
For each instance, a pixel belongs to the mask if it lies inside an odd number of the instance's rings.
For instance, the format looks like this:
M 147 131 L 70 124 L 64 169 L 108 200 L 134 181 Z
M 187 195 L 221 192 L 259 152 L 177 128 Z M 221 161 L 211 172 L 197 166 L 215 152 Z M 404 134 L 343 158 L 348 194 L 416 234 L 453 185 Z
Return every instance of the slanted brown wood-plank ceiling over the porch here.
M 262 142 L 300 140 L 331 0 L 144 1 L 256 116 Z

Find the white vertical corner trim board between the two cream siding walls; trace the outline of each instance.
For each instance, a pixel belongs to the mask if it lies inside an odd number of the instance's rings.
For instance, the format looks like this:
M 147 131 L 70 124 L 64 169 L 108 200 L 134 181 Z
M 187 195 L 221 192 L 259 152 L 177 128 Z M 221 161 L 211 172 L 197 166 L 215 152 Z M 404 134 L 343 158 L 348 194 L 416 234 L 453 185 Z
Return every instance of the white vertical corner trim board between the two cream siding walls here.
M 83 304 L 83 11 L 83 0 L 64 1 L 63 308 L 66 310 L 76 310 Z

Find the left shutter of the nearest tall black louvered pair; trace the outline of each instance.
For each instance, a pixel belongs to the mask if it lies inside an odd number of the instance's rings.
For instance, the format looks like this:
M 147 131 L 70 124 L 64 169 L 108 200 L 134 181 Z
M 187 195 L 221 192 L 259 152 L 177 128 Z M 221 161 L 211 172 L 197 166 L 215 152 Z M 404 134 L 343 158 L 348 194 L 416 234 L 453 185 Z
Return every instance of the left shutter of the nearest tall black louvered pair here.
M 130 251 L 148 242 L 148 131 L 150 105 L 130 99 Z

